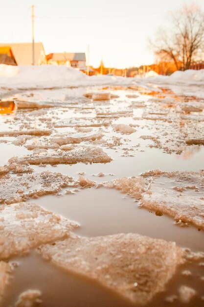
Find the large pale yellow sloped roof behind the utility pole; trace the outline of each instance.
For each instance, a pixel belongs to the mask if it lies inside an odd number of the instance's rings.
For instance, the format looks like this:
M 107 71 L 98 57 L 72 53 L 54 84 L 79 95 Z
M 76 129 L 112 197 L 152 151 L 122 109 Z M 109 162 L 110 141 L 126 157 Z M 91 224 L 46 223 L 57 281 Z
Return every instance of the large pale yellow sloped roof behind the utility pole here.
M 0 44 L 0 47 L 11 48 L 17 65 L 33 64 L 33 46 L 32 43 L 12 43 Z M 43 43 L 34 43 L 35 65 L 46 64 L 46 55 Z

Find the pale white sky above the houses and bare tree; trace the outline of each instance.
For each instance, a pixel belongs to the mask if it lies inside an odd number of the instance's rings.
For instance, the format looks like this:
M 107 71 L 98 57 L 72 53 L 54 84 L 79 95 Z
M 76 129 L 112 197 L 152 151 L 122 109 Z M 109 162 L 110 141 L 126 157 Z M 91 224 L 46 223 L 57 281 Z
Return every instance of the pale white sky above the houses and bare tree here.
M 0 0 L 0 43 L 35 41 L 45 53 L 86 52 L 89 64 L 126 68 L 154 63 L 148 38 L 188 0 Z M 204 0 L 196 0 L 204 9 Z

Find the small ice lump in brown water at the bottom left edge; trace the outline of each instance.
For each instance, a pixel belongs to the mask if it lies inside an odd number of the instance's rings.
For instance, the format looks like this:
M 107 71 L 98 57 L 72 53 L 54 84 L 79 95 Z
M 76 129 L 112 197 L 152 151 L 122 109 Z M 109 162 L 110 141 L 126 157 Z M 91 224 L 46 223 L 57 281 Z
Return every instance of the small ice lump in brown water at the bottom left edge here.
M 26 290 L 19 295 L 15 307 L 37 307 L 42 303 L 41 291 Z

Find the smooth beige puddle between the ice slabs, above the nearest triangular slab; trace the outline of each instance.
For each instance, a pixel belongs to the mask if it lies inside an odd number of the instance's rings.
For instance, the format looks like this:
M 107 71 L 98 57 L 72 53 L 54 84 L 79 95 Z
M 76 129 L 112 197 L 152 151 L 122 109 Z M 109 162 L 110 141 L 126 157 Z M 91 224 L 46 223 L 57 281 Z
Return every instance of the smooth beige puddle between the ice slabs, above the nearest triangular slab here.
M 35 203 L 78 222 L 80 227 L 75 232 L 79 235 L 134 232 L 175 241 L 179 246 L 194 251 L 204 251 L 204 231 L 175 226 L 170 217 L 157 216 L 139 208 L 134 199 L 115 190 L 90 188 L 74 195 L 47 195 L 35 200 Z

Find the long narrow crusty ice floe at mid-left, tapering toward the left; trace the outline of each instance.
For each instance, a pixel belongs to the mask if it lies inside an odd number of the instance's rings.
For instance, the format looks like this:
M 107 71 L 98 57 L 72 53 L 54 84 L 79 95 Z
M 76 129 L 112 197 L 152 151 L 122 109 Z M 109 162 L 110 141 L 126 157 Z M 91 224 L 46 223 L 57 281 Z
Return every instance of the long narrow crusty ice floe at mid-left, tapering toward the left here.
M 32 153 L 21 157 L 9 159 L 9 163 L 19 164 L 75 164 L 82 163 L 108 163 L 112 158 L 97 147 L 76 146 L 68 152 L 64 150 Z

